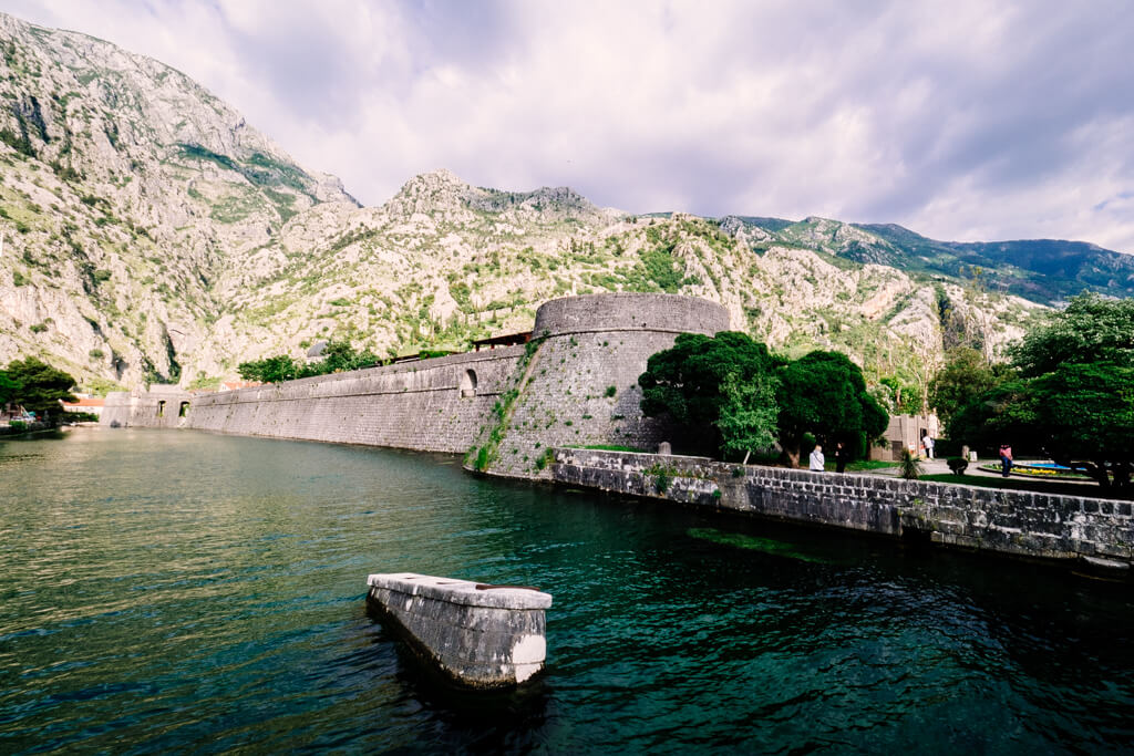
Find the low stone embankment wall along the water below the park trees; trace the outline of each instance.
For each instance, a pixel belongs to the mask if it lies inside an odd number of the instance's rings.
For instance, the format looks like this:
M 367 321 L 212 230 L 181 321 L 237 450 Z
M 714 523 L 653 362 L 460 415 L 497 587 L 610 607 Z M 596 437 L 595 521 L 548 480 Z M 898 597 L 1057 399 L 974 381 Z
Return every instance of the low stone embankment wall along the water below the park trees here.
M 891 537 L 1128 568 L 1132 502 L 742 466 L 703 457 L 556 449 L 552 479 Z

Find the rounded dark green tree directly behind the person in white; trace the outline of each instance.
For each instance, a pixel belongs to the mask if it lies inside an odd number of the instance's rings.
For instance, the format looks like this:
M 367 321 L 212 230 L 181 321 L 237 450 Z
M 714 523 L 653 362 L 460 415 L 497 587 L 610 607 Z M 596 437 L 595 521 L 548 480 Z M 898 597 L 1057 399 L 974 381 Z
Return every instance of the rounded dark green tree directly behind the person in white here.
M 881 435 L 889 415 L 866 392 L 857 365 L 839 351 L 812 351 L 778 371 L 779 443 L 793 466 L 799 444 L 811 433 L 822 444 L 841 441 L 852 456 L 862 455 Z

